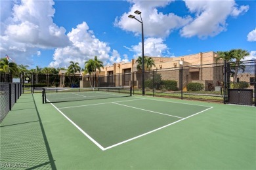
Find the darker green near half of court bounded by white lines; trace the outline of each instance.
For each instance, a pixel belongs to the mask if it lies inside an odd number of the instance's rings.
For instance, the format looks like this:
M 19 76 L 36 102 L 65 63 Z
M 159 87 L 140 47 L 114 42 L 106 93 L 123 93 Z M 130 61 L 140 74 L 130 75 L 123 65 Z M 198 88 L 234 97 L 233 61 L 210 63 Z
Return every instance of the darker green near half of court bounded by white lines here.
M 211 109 L 139 97 L 54 103 L 53 106 L 102 150 Z

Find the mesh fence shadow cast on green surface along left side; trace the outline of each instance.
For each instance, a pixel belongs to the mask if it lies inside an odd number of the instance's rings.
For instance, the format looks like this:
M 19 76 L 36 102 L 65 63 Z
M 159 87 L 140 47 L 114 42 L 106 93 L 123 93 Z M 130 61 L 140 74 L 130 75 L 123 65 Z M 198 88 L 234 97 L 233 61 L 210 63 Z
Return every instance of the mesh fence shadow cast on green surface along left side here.
M 1 123 L 1 169 L 56 169 L 32 94 Z

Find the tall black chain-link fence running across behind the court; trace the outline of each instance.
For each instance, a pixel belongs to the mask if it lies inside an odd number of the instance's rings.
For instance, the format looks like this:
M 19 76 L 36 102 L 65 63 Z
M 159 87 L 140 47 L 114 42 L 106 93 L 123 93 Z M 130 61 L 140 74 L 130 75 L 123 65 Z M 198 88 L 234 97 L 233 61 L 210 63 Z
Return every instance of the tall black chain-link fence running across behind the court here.
M 175 66 L 145 71 L 145 95 L 256 106 L 256 60 L 208 65 L 189 65 L 184 62 L 183 67 Z M 141 72 L 112 73 L 97 76 L 22 73 L 2 74 L 0 77 L 1 81 L 20 77 L 24 93 L 42 92 L 47 87 L 129 86 L 133 88 L 133 94 L 142 94 Z

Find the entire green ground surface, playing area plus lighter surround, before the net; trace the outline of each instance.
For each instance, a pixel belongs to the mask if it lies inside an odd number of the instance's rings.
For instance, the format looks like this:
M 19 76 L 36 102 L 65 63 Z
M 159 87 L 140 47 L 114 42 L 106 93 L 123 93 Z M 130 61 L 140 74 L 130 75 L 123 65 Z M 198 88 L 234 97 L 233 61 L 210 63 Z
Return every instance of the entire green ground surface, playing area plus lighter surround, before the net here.
M 255 122 L 240 105 L 23 94 L 1 123 L 1 169 L 256 169 Z

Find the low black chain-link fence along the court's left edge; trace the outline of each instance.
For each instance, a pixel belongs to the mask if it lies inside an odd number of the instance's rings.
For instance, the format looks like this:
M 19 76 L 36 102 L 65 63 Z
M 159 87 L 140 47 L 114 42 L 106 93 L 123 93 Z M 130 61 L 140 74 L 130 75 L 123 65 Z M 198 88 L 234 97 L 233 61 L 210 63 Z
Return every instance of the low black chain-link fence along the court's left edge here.
M 22 95 L 20 83 L 0 83 L 0 123 Z

